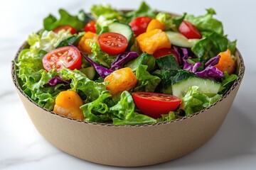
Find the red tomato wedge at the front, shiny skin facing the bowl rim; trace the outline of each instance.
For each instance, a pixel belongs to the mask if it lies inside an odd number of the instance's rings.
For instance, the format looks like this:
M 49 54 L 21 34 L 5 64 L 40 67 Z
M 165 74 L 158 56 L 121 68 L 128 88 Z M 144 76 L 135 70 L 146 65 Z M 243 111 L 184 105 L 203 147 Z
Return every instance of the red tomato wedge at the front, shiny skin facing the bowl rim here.
M 161 115 L 175 111 L 181 104 L 181 98 L 169 94 L 134 92 L 132 97 L 137 108 L 151 118 L 161 118 Z

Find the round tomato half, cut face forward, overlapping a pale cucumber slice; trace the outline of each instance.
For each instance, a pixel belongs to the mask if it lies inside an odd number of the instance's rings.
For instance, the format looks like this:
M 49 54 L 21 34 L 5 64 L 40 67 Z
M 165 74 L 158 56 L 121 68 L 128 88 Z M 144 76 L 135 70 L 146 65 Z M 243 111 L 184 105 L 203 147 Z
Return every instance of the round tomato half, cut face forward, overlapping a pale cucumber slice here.
M 102 51 L 109 55 L 117 55 L 127 48 L 128 40 L 119 33 L 102 33 L 98 42 Z

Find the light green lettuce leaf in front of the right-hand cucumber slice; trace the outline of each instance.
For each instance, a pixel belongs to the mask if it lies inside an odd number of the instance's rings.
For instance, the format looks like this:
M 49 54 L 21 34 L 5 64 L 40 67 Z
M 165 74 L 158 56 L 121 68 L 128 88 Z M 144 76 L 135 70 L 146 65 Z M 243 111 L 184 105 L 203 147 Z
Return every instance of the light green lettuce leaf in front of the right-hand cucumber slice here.
M 198 86 L 189 87 L 188 92 L 182 98 L 186 116 L 192 115 L 193 113 L 201 111 L 203 108 L 211 106 L 222 97 L 220 94 L 215 94 L 215 96 L 209 97 L 206 94 L 201 94 L 198 89 Z

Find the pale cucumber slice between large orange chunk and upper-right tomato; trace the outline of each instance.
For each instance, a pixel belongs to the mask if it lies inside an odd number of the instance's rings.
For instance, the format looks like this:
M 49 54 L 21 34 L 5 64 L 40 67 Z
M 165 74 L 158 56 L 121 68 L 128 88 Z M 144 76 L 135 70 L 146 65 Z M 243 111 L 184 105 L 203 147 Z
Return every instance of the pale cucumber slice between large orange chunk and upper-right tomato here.
M 178 47 L 193 47 L 200 39 L 188 39 L 184 35 L 174 31 L 166 31 L 171 44 Z

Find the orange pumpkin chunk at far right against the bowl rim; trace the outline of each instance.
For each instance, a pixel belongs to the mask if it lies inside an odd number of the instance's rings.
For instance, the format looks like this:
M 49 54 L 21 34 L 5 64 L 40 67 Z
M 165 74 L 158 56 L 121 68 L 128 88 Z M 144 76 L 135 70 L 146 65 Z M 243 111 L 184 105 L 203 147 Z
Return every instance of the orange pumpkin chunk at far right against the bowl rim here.
M 225 52 L 220 52 L 220 60 L 218 64 L 215 64 L 221 72 L 228 72 L 228 74 L 233 74 L 235 71 L 235 60 L 233 60 L 230 50 Z

